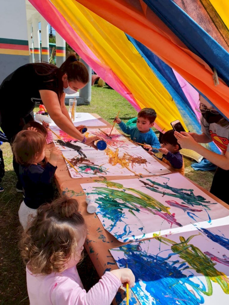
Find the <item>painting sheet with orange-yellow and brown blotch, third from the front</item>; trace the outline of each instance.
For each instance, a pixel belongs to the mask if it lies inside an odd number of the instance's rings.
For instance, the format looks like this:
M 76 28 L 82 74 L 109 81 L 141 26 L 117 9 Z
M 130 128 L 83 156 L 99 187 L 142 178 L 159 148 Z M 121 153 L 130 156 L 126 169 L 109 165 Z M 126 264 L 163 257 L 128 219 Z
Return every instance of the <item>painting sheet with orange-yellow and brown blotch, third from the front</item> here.
M 67 158 L 82 175 L 82 177 L 94 176 L 120 176 L 120 175 L 149 175 L 167 174 L 170 171 L 151 157 L 143 148 L 134 147 L 128 153 L 125 149 L 107 148 L 104 151 L 84 149 L 75 151 L 63 151 Z M 83 156 L 86 155 L 86 158 Z M 76 171 L 68 166 L 72 178 L 80 178 Z

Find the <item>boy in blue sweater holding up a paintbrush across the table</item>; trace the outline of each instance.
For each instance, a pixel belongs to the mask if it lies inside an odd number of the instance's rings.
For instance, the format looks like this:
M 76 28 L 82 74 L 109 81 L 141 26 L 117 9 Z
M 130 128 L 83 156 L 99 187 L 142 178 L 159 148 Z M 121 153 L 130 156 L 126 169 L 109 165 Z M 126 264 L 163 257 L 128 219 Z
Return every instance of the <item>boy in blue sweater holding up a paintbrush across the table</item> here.
M 153 152 L 157 152 L 154 148 L 161 148 L 161 145 L 158 141 L 158 138 L 151 127 L 154 126 L 154 121 L 157 117 L 157 114 L 152 108 L 143 108 L 138 113 L 137 117 L 137 126 L 126 126 L 121 119 L 115 118 L 115 122 L 118 123 L 119 127 L 127 135 L 130 135 L 131 140 L 141 143 L 148 144 L 152 147 Z

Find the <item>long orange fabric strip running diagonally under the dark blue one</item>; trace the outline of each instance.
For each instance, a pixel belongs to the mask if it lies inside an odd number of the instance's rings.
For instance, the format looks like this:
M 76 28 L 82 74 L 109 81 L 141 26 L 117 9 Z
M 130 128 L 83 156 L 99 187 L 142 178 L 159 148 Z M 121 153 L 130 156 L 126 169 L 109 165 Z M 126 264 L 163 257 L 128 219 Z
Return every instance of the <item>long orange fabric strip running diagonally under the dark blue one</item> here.
M 150 48 L 229 118 L 227 85 L 220 80 L 215 86 L 211 68 L 191 52 L 143 1 L 104 0 L 102 6 L 93 0 L 78 2 Z

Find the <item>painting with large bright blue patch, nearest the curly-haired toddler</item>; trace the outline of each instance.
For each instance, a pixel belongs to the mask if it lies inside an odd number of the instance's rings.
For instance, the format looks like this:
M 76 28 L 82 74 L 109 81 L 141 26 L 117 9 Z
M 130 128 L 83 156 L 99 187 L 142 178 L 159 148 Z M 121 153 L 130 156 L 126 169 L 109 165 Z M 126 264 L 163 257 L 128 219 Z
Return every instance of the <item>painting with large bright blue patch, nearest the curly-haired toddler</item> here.
M 217 229 L 228 237 L 229 226 Z M 119 268 L 128 264 L 133 271 L 132 290 L 142 305 L 228 304 L 229 250 L 198 230 L 133 242 L 110 251 Z

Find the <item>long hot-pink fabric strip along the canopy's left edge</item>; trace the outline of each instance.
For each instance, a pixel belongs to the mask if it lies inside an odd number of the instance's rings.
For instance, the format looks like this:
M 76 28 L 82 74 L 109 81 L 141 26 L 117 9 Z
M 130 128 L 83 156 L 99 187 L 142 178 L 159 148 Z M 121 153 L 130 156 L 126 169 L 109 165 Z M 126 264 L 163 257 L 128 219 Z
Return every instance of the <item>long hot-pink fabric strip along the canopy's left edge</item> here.
M 130 104 L 140 111 L 140 107 L 128 88 L 120 81 L 117 75 L 95 56 L 85 42 L 78 36 L 67 20 L 59 13 L 49 0 L 29 0 L 38 12 L 52 27 L 67 41 L 78 55 L 107 83 L 121 94 Z

